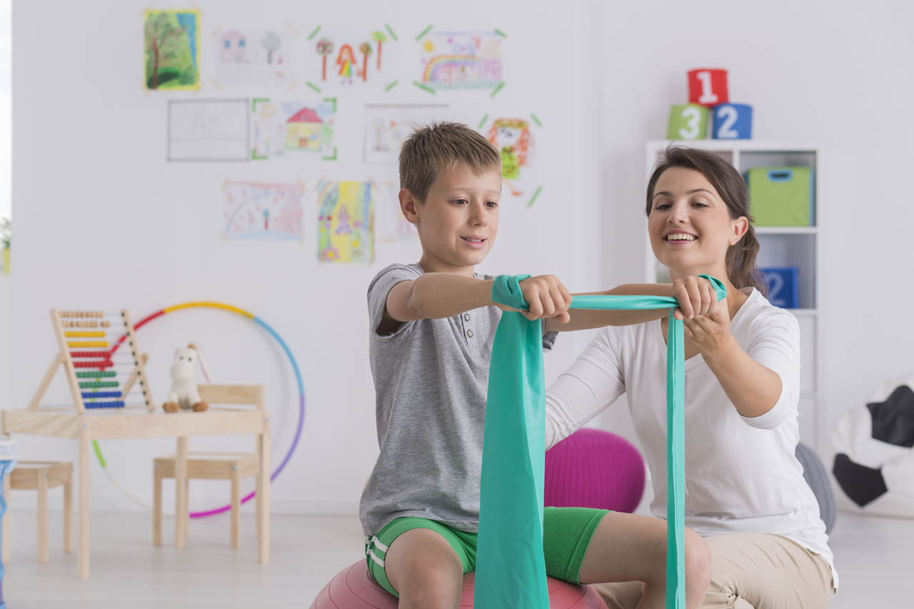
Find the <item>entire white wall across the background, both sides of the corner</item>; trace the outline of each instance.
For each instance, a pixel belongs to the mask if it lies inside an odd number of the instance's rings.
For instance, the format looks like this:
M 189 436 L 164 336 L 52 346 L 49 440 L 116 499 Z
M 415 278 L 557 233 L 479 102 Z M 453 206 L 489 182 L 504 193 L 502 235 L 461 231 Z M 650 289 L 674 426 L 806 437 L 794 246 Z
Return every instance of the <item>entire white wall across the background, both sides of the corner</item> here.
M 135 318 L 176 302 L 224 300 L 276 327 L 305 376 L 303 445 L 274 486 L 276 508 L 353 511 L 377 454 L 365 289 L 389 262 L 415 260 L 416 247 L 379 245 L 370 267 L 321 266 L 315 262 L 313 222 L 301 246 L 226 243 L 218 238 L 216 217 L 218 186 L 226 177 L 292 175 L 312 184 L 323 174 L 371 175 L 357 152 L 360 108 L 369 98 L 340 96 L 339 121 L 350 127 L 339 131 L 341 159 L 330 168 L 166 164 L 165 100 L 190 94 L 143 91 L 140 14 L 146 5 L 15 5 L 16 294 L 11 343 L 0 336 L 13 360 L 11 403 L 5 406 L 28 401 L 54 353 L 51 306 L 126 306 Z M 394 11 L 369 2 L 339 8 L 288 1 L 199 5 L 206 13 L 204 70 L 211 60 L 207 36 L 221 24 L 288 20 L 310 32 L 345 17 L 345 27 L 390 23 L 401 39 L 429 23 L 504 29 L 512 53 L 508 86 L 494 100 L 462 94 L 447 101 L 465 120 L 490 109 L 537 112 L 545 125 L 539 154 L 547 171 L 534 208 L 503 208 L 499 242 L 482 270 L 556 272 L 576 290 L 643 279 L 644 141 L 663 137 L 669 105 L 685 101 L 687 69 L 729 69 L 734 101 L 755 107 L 758 139 L 825 146 L 823 430 L 877 382 L 914 368 L 906 348 L 914 321 L 904 310 L 914 296 L 904 272 L 911 258 L 905 238 L 914 220 L 903 178 L 914 162 L 909 3 L 863 8 L 581 0 L 470 2 L 460 11 L 406 1 Z M 89 78 L 92 66 L 101 68 Z M 259 93 L 210 88 L 197 97 Z M 389 102 L 429 101 L 402 86 L 389 96 Z M 309 206 L 306 217 L 313 217 L 313 202 Z M 166 316 L 140 331 L 143 350 L 153 356 L 150 374 L 160 401 L 170 354 L 189 339 L 206 347 L 218 380 L 267 386 L 276 422 L 274 459 L 281 456 L 291 440 L 295 396 L 275 346 L 230 315 Z M 586 337 L 560 341 L 547 357 L 547 376 L 558 374 L 584 344 Z M 59 384 L 52 392 L 65 394 Z M 631 437 L 622 404 L 598 423 Z M 200 440 L 192 448 L 244 442 Z M 20 444 L 27 457 L 74 455 L 66 441 L 22 437 Z M 103 448 L 122 481 L 148 497 L 152 456 L 171 444 L 110 442 Z M 94 473 L 94 506 L 130 508 L 97 467 Z M 226 497 L 221 486 L 197 489 L 191 493 L 194 507 Z

